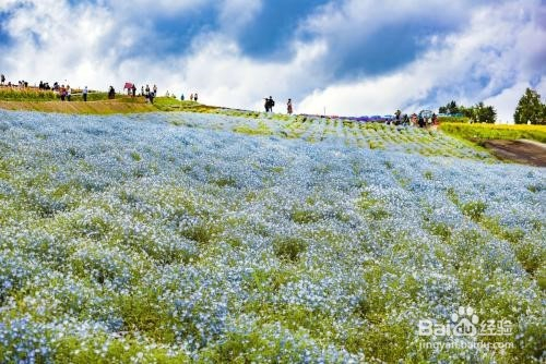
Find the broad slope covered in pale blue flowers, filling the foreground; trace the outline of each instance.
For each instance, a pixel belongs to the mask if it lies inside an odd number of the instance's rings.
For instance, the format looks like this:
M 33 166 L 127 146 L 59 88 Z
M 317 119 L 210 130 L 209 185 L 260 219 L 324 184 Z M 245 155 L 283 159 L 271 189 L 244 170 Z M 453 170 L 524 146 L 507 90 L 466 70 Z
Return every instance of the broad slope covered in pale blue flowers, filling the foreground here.
M 0 112 L 0 362 L 544 359 L 544 169 L 192 113 Z M 426 347 L 461 305 L 512 348 Z

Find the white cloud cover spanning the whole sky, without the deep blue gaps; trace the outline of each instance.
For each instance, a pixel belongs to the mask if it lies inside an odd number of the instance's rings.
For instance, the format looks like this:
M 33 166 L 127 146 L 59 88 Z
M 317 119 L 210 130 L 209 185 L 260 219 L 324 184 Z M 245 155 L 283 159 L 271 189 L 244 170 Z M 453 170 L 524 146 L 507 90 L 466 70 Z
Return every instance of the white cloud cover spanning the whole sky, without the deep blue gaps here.
M 0 0 L 0 9 L 17 2 Z M 337 114 L 407 112 L 438 107 L 451 99 L 465 105 L 485 100 L 510 120 L 524 87 L 537 76 L 546 83 L 545 7 L 537 0 L 506 1 L 471 8 L 470 1 L 370 0 L 332 2 L 310 14 L 287 44 L 287 60 L 257 60 L 242 53 L 235 35 L 252 21 L 262 1 L 97 1 L 71 9 L 67 1 L 31 1 L 8 22 L 14 39 L 1 47 L 0 69 L 9 80 L 67 80 L 72 86 L 120 88 L 126 81 L 159 86 L 161 94 L 199 92 L 204 102 L 261 109 L 269 95 L 277 105 L 295 99 L 297 112 Z M 29 2 L 27 2 L 29 3 Z M 154 16 L 213 5 L 221 31 L 197 35 L 192 46 L 177 54 L 154 54 Z M 201 7 L 201 8 L 200 8 Z M 390 74 L 333 77 L 332 54 L 355 47 L 379 27 L 405 19 L 444 16 L 453 22 L 470 16 L 465 28 L 422 39 L 429 50 Z M 425 21 L 423 21 L 423 24 Z M 311 40 L 297 35 L 311 32 Z M 356 39 L 356 40 L 355 40 Z M 342 48 L 335 43 L 344 43 Z M 136 50 L 136 51 L 135 51 Z M 482 80 L 482 81 L 480 81 Z M 482 85 L 485 83 L 485 85 Z M 543 95 L 546 94 L 546 89 Z M 278 109 L 277 109 L 278 110 Z

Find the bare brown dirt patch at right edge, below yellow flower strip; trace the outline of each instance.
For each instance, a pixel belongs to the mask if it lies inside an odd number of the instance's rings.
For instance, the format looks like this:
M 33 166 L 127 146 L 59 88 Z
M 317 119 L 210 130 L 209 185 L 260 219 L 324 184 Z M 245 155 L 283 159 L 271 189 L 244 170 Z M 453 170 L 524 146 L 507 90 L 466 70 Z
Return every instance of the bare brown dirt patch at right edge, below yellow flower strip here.
M 546 167 L 546 144 L 532 141 L 487 141 L 484 145 L 500 159 Z

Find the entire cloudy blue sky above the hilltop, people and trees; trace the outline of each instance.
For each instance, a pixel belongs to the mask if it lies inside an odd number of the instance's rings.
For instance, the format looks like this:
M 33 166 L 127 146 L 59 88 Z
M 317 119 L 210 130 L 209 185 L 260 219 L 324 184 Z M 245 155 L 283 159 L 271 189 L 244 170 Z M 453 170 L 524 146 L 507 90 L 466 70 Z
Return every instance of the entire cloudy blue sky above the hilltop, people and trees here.
M 0 0 L 0 72 L 278 112 L 484 101 L 511 122 L 526 87 L 546 96 L 546 0 Z

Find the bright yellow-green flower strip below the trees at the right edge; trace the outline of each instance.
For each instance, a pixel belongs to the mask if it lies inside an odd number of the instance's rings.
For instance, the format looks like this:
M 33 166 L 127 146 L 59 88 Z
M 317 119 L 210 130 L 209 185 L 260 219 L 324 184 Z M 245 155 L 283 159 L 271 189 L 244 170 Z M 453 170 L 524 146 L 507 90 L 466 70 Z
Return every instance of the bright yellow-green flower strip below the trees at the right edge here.
M 468 141 L 531 139 L 546 143 L 546 126 L 544 125 L 442 123 L 440 130 L 452 136 Z

